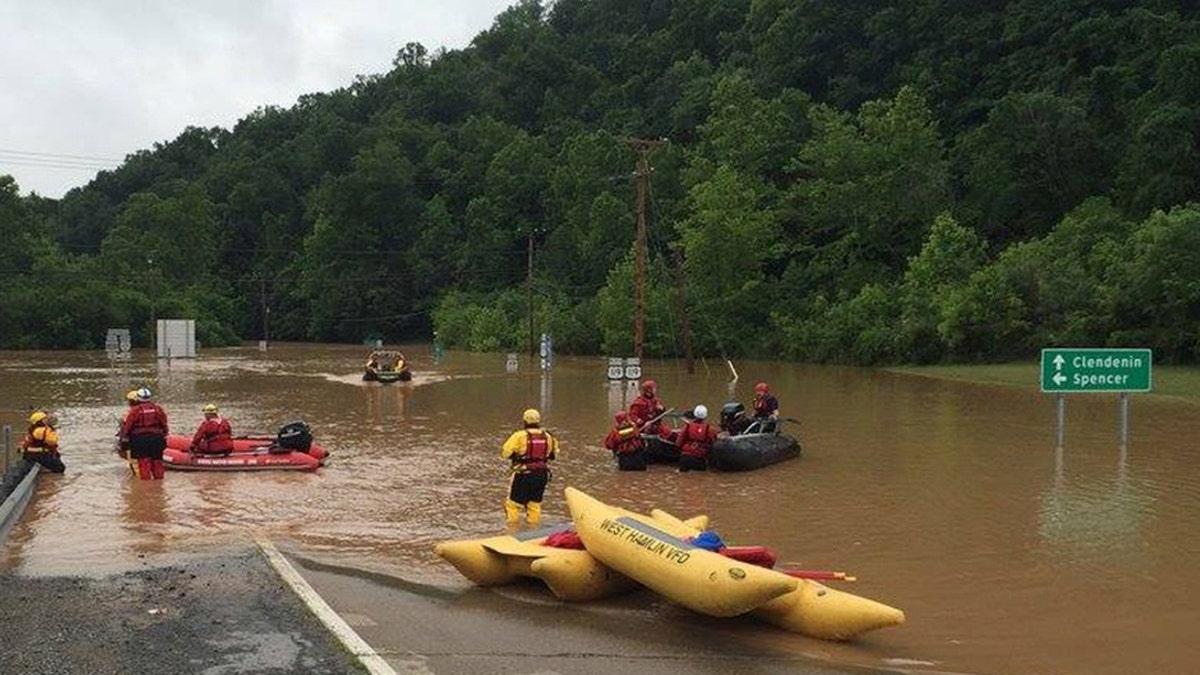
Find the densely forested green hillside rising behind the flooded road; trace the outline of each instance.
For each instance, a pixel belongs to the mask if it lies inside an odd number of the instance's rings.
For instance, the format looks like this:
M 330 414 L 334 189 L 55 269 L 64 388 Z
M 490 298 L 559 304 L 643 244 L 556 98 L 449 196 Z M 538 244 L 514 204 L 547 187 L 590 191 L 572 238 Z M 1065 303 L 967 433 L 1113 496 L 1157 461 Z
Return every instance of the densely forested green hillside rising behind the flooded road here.
M 646 356 L 686 317 L 710 356 L 1195 363 L 1193 7 L 524 0 L 62 199 L 0 177 L 0 347 L 193 317 L 205 345 L 524 350 L 532 297 L 558 351 L 628 354 L 630 142 L 664 139 Z

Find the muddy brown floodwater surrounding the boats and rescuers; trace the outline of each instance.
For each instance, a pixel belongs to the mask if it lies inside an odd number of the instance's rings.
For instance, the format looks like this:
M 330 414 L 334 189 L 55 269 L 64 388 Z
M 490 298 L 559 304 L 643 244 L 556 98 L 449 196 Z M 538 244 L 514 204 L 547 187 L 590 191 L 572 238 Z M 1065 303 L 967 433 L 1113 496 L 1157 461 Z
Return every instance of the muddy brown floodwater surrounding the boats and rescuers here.
M 1028 389 L 895 372 L 782 363 L 648 362 L 667 405 L 749 401 L 769 380 L 804 456 L 749 473 L 652 466 L 618 473 L 600 440 L 632 392 L 598 358 L 407 350 L 414 381 L 361 382 L 366 350 L 274 345 L 206 350 L 193 360 L 137 353 L 0 353 L 0 423 L 23 429 L 32 406 L 59 412 L 61 477 L 44 477 L 0 565 L 25 574 L 102 574 L 137 556 L 187 555 L 247 528 L 304 555 L 454 586 L 434 543 L 503 528 L 499 444 L 521 411 L 541 408 L 564 454 L 562 489 L 648 512 L 704 513 L 731 544 L 766 544 L 780 561 L 844 571 L 842 587 L 904 609 L 904 626 L 823 643 L 762 626 L 774 649 L 834 663 L 971 674 L 1198 673 L 1200 406 L 1135 395 L 1122 447 L 1117 398 L 1067 404 L 1055 448 L 1054 402 Z M 332 452 L 318 473 L 168 472 L 134 480 L 112 454 L 126 390 L 149 386 L 190 434 L 206 402 L 235 432 L 302 418 Z M 580 615 L 586 621 L 584 615 Z

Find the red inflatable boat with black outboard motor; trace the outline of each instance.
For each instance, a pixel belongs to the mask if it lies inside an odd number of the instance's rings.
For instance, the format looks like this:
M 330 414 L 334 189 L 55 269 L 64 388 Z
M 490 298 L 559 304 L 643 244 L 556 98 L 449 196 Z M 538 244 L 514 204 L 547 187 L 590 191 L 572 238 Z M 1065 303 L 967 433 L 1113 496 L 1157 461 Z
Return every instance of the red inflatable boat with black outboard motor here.
M 191 444 L 191 436 L 168 435 L 163 465 L 176 471 L 316 471 L 329 456 L 302 422 L 284 425 L 277 436 L 236 436 L 228 455 L 192 453 Z

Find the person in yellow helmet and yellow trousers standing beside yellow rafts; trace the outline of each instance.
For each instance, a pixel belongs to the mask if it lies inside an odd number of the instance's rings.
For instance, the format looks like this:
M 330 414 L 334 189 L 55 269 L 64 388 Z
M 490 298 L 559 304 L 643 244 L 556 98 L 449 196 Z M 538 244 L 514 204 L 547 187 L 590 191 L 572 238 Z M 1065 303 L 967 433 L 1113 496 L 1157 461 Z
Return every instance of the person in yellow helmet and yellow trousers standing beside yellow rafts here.
M 509 496 L 504 500 L 504 515 L 509 530 L 521 522 L 526 509 L 526 525 L 541 522 L 541 498 L 550 483 L 550 461 L 558 456 L 558 438 L 541 428 L 541 413 L 529 408 L 521 414 L 524 429 L 514 431 L 500 448 L 500 458 L 512 462 Z

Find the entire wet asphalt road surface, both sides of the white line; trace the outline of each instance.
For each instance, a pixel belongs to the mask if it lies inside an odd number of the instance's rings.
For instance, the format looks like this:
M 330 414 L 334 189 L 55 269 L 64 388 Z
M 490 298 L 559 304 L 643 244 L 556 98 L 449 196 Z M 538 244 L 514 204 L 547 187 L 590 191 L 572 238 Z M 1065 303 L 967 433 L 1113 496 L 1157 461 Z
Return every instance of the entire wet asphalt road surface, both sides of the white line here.
M 716 620 L 648 591 L 569 604 L 545 589 L 436 587 L 284 557 L 406 675 L 846 675 L 776 649 L 775 629 Z M 366 673 L 253 544 L 104 578 L 0 574 L 0 673 Z

